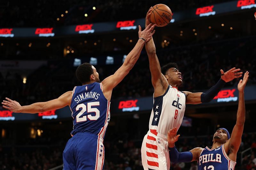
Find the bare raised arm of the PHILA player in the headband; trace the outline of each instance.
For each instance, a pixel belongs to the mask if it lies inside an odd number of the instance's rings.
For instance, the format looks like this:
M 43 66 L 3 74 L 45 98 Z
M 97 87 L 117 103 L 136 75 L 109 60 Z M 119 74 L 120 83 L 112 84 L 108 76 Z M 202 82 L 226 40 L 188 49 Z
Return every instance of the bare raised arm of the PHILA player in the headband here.
M 228 142 L 224 144 L 224 148 L 229 158 L 236 161 L 236 153 L 241 144 L 241 138 L 244 130 L 245 122 L 245 105 L 244 105 L 244 88 L 249 78 L 249 72 L 244 73 L 243 80 L 240 80 L 237 89 L 239 91 L 238 110 L 236 114 L 236 125 L 233 128 L 232 134 Z

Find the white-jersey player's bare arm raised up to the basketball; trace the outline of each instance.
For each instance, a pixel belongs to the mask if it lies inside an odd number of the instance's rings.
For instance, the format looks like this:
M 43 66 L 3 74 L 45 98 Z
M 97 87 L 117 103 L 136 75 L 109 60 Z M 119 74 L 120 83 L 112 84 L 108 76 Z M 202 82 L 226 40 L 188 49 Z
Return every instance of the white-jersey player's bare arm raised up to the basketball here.
M 145 24 L 146 27 L 150 24 L 148 18 L 151 12 L 151 8 L 147 12 L 146 24 Z M 164 94 L 169 84 L 166 78 L 164 77 L 164 75 L 161 73 L 161 67 L 160 67 L 158 58 L 156 56 L 156 47 L 155 47 L 153 38 L 151 38 L 148 42 L 146 42 L 145 47 L 148 54 L 149 69 L 151 72 L 151 81 L 155 89 L 154 97 L 157 97 Z

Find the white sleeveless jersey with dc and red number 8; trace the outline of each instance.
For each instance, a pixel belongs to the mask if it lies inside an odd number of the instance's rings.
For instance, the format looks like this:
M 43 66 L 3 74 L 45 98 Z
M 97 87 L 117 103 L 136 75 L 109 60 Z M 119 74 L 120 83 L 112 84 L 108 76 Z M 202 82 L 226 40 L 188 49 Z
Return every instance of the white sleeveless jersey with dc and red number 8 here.
M 149 120 L 149 129 L 166 135 L 170 129 L 180 125 L 186 107 L 186 95 L 176 87 L 169 85 L 162 96 L 154 98 L 154 105 Z

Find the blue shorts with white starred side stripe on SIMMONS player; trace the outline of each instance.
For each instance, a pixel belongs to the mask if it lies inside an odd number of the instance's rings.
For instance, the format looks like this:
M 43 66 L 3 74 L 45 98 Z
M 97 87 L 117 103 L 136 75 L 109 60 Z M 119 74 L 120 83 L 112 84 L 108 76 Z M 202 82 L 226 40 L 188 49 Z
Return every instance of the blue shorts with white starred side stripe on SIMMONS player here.
M 76 133 L 63 151 L 63 170 L 102 170 L 104 153 L 102 138 L 90 133 Z

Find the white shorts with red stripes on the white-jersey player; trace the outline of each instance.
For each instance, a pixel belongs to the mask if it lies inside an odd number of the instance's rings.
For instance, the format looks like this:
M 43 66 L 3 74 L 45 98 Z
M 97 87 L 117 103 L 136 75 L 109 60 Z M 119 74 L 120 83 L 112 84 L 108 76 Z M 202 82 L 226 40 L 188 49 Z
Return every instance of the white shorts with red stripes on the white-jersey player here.
M 150 129 L 142 142 L 141 160 L 144 170 L 169 170 L 167 136 Z

